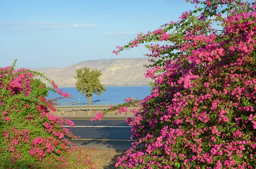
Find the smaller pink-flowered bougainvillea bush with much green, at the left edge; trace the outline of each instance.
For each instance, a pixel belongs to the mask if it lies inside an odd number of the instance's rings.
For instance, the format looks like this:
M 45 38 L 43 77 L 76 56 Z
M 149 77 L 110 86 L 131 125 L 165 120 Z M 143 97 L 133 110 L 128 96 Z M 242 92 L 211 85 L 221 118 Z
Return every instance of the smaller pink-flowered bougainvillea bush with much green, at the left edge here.
M 48 89 L 41 86 L 31 92 L 31 78 L 44 75 L 14 70 L 15 63 L 0 68 L 0 168 L 93 169 L 90 153 L 67 140 L 75 136 L 63 125 L 74 127 L 74 123 L 49 114 L 55 102 L 41 95 Z M 47 80 L 60 98 L 70 97 Z

